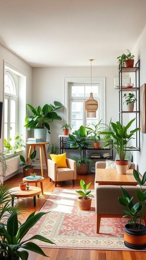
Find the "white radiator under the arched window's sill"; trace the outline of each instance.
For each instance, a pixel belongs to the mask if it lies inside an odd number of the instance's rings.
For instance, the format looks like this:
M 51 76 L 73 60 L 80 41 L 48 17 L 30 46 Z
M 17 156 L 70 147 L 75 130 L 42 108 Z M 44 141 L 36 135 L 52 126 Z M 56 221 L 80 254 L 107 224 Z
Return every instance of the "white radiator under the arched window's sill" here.
M 19 170 L 20 157 L 16 156 L 11 159 L 6 160 L 6 164 L 8 165 L 8 170 L 4 173 L 4 176 L 8 176 L 13 172 L 16 172 Z

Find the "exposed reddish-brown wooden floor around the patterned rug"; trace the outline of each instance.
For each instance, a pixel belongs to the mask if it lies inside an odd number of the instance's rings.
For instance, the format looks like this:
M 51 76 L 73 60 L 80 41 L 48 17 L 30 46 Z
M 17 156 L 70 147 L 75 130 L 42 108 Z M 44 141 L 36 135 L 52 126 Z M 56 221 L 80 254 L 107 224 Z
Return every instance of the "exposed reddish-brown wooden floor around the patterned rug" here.
M 35 170 L 37 175 L 41 175 L 41 170 Z M 24 207 L 28 210 L 25 212 L 24 218 L 21 219 L 21 222 L 24 222 L 27 215 L 36 210 L 36 213 L 41 209 L 46 199 L 49 197 L 50 193 L 54 190 L 55 185 L 51 181 L 49 182 L 49 178 L 47 176 L 47 170 L 44 170 L 45 180 L 43 182 L 44 186 L 44 195 L 40 194 L 39 198 L 37 198 L 36 207 L 33 205 L 32 198 L 24 198 L 17 199 L 18 203 L 24 205 Z M 22 182 L 23 173 L 17 174 L 6 181 L 4 184 L 12 184 L 13 186 L 18 186 L 19 183 Z M 88 175 L 77 175 L 77 179 L 75 180 L 75 185 L 72 185 L 72 181 L 64 181 L 57 183 L 58 188 L 65 189 L 80 189 L 80 179 L 83 179 L 85 183 L 91 182 L 90 189 L 94 189 L 94 179 L 95 174 L 89 173 Z M 34 183 L 31 186 L 35 185 Z M 40 183 L 38 184 L 39 187 Z M 86 223 L 85 223 L 86 226 Z M 142 251 L 114 251 L 114 250 L 81 250 L 81 249 L 48 249 L 42 248 L 44 253 L 48 255 L 48 257 L 44 257 L 33 252 L 29 253 L 28 260 L 146 260 L 146 252 Z

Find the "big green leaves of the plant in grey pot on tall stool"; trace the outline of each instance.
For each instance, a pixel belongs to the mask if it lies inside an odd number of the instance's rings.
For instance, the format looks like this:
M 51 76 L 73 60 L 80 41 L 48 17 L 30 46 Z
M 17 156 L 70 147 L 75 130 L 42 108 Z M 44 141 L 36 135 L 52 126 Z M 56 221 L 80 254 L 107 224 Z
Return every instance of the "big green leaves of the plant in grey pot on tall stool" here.
M 47 128 L 48 133 L 50 134 L 49 123 L 53 120 L 62 120 L 60 116 L 55 112 L 56 110 L 63 107 L 60 102 L 54 101 L 54 105 L 44 105 L 43 108 L 38 106 L 37 108 L 32 107 L 29 104 L 26 104 L 32 111 L 34 115 L 26 115 L 25 118 L 25 127 L 30 129 L 34 128 Z

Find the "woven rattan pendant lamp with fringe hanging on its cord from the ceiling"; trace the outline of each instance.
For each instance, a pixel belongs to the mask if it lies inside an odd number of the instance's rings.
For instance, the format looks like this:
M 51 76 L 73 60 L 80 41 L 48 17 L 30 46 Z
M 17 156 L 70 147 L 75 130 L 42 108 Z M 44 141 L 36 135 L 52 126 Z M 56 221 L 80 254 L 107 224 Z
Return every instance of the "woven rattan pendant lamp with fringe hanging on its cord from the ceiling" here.
M 89 60 L 90 62 L 93 59 Z M 85 109 L 87 111 L 87 118 L 96 118 L 96 111 L 98 109 L 98 102 L 93 98 L 92 93 L 92 73 L 91 73 L 91 92 L 89 99 L 85 102 Z

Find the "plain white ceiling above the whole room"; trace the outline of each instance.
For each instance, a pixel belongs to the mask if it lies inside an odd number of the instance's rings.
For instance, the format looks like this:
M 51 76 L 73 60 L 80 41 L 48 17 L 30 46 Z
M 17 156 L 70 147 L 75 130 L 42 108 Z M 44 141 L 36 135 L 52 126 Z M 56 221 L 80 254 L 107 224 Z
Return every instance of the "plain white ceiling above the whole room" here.
M 0 44 L 32 67 L 117 66 L 145 12 L 146 0 L 0 0 Z

